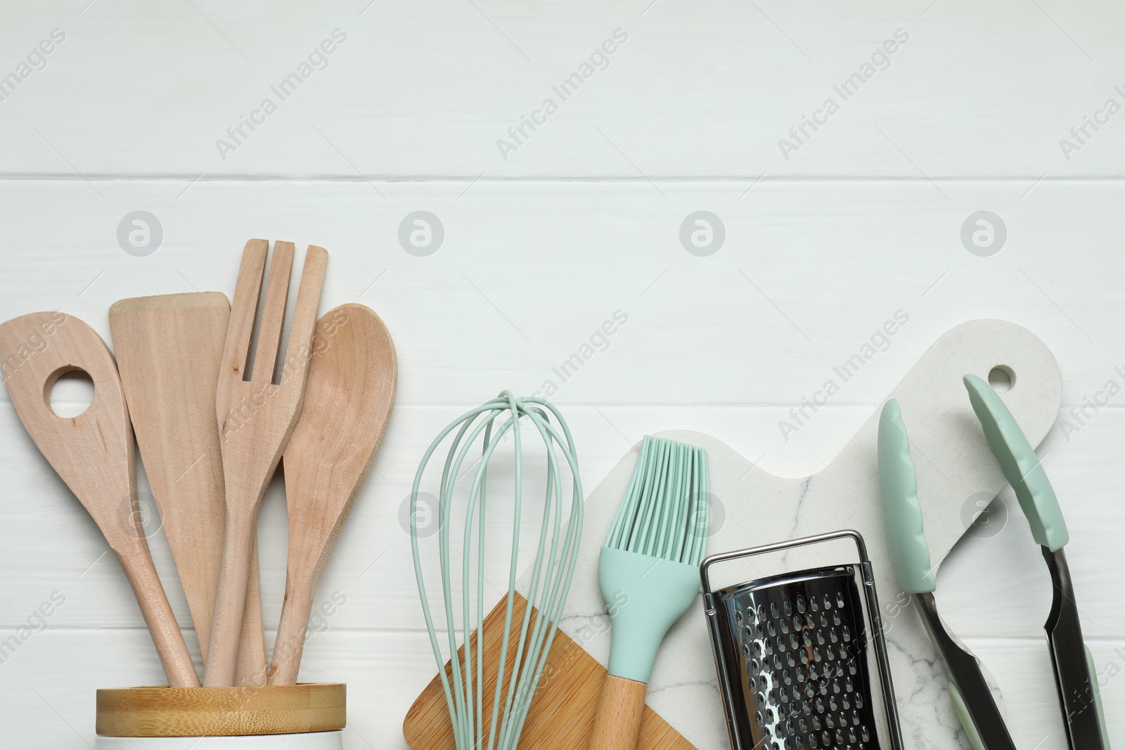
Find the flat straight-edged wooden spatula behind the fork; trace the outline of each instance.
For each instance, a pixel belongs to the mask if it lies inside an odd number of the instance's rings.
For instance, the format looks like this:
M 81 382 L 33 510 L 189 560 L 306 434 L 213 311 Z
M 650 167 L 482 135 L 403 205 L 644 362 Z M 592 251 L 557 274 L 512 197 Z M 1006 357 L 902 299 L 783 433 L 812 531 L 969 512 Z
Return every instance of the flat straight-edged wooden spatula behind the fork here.
M 129 417 L 204 661 L 226 517 L 215 391 L 230 317 L 231 304 L 218 291 L 134 297 L 109 308 Z M 264 684 L 255 548 L 235 685 Z

